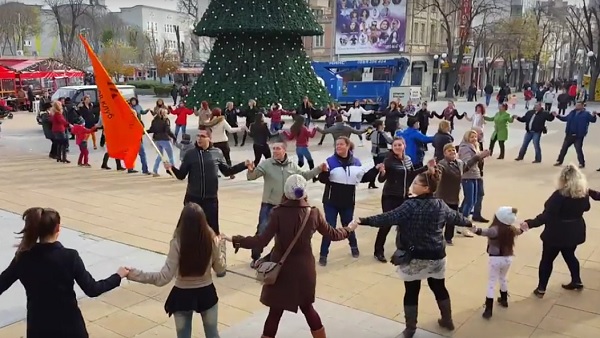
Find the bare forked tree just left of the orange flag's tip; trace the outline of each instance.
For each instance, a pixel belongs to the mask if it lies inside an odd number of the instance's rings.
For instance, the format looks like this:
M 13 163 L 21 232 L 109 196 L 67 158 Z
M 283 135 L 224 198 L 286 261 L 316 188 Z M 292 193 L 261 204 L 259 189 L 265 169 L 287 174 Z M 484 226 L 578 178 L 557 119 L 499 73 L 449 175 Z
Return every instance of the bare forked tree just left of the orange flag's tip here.
M 82 21 L 88 11 L 89 2 L 85 0 L 45 0 L 54 14 L 63 62 L 78 63 L 77 36 L 86 28 Z

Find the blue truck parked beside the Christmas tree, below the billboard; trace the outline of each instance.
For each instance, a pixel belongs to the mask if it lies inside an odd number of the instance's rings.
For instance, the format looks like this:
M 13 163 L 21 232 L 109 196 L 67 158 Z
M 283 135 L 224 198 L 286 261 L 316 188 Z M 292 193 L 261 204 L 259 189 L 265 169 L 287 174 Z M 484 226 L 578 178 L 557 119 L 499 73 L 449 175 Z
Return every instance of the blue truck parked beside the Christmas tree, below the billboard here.
M 380 111 L 388 106 L 390 89 L 400 87 L 410 62 L 407 58 L 387 60 L 332 61 L 312 63 L 325 88 L 340 106 L 347 109 L 359 100 L 367 110 Z M 365 76 L 372 73 L 371 76 Z M 375 78 L 376 80 L 364 80 Z M 365 115 L 367 122 L 377 114 Z

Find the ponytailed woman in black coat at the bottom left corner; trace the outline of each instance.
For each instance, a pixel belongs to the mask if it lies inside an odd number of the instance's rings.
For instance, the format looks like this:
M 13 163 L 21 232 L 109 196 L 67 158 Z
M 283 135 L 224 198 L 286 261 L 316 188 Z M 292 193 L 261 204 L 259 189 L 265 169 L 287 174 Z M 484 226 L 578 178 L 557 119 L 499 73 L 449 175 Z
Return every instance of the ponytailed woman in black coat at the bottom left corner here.
M 58 241 L 60 215 L 49 208 L 29 208 L 17 253 L 0 274 L 0 295 L 17 280 L 27 294 L 27 338 L 88 338 L 77 306 L 74 282 L 88 297 L 98 297 L 121 284 L 125 268 L 96 281 L 85 269 L 77 251 Z

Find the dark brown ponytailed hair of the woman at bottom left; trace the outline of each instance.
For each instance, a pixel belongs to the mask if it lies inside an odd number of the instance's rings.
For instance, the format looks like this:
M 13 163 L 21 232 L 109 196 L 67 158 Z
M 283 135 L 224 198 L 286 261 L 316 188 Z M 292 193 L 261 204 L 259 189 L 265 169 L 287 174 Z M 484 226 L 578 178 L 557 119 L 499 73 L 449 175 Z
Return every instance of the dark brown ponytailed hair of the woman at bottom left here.
M 23 252 L 29 251 L 38 240 L 53 235 L 60 224 L 58 211 L 50 208 L 29 208 L 21 217 L 25 221 L 25 225 L 21 231 L 17 232 L 18 235 L 21 235 L 21 243 L 17 246 L 17 257 Z

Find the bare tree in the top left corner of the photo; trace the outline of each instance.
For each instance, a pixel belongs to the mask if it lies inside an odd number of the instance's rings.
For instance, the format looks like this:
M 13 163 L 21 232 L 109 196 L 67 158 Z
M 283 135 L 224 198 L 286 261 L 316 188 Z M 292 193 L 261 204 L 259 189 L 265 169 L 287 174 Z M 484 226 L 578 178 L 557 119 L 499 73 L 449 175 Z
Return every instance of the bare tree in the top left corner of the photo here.
M 18 2 L 0 4 L 0 55 L 25 50 L 25 40 L 40 32 L 40 8 Z

